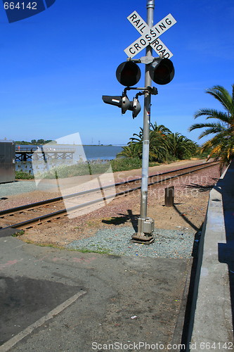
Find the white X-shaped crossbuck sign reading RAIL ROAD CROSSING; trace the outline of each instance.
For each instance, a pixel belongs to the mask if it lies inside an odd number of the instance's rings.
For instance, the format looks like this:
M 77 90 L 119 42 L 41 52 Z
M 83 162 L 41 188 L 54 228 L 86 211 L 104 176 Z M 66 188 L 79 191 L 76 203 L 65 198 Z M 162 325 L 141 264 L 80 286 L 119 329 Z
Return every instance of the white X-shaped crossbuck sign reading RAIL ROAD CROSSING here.
M 169 30 L 169 28 L 176 23 L 176 20 L 171 15 L 171 13 L 169 13 L 169 15 L 164 17 L 152 28 L 150 28 L 148 24 L 145 23 L 145 21 L 141 18 L 140 15 L 138 15 L 136 11 L 131 13 L 127 19 L 136 28 L 136 30 L 142 34 L 140 38 L 138 38 L 134 43 L 129 45 L 124 50 L 129 58 L 133 58 L 148 45 L 152 46 L 152 49 L 154 49 L 158 55 L 163 55 L 164 58 L 171 58 L 171 56 L 173 56 L 171 51 L 167 49 L 167 46 L 165 46 L 163 42 L 158 38 L 162 33 L 166 32 L 166 30 Z

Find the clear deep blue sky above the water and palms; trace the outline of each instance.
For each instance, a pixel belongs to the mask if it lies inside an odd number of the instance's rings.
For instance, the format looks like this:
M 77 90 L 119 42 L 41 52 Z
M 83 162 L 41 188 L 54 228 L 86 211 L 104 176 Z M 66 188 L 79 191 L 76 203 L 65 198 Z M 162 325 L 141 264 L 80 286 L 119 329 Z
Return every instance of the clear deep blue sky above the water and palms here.
M 56 0 L 15 23 L 8 23 L 0 3 L 0 139 L 58 139 L 79 132 L 83 144 L 129 142 L 143 126 L 143 112 L 133 120 L 130 111 L 122 115 L 103 103 L 102 95 L 122 94 L 115 71 L 126 60 L 124 49 L 140 37 L 126 17 L 136 10 L 147 22 L 146 2 Z M 175 77 L 157 86 L 151 122 L 197 142 L 201 131 L 188 127 L 204 118 L 194 120 L 195 111 L 221 108 L 205 89 L 220 84 L 230 92 L 234 83 L 234 3 L 155 1 L 154 23 L 168 13 L 177 23 L 160 39 L 174 54 Z M 135 58 L 141 56 L 145 51 Z M 137 85 L 144 86 L 143 74 Z

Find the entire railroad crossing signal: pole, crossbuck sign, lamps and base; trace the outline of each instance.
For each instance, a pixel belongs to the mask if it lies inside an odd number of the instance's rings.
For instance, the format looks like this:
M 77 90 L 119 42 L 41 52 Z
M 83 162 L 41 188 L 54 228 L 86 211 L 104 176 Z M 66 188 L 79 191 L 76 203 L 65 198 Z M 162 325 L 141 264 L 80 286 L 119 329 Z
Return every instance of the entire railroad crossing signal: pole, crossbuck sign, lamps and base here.
M 157 88 L 151 87 L 152 81 L 157 84 L 168 84 L 174 77 L 174 65 L 169 58 L 173 56 L 171 51 L 159 39 L 160 35 L 176 23 L 174 17 L 169 13 L 162 18 L 159 23 L 153 25 L 153 14 L 155 9 L 155 0 L 147 0 L 147 23 L 141 18 L 136 11 L 131 13 L 127 19 L 141 37 L 135 40 L 124 49 L 128 56 L 127 61 L 121 63 L 116 70 L 116 77 L 119 83 L 126 88 L 122 96 L 103 95 L 104 103 L 118 106 L 122 114 L 126 111 L 132 111 L 132 117 L 136 118 L 141 111 L 141 104 L 138 96 L 144 94 L 144 112 L 143 112 L 143 155 L 142 155 L 142 177 L 141 177 L 141 215 L 138 218 L 138 230 L 132 235 L 132 240 L 138 243 L 150 244 L 154 241 L 152 232 L 154 231 L 155 222 L 147 216 L 148 206 L 148 168 L 150 152 L 150 106 L 151 95 L 157 94 Z M 145 49 L 145 56 L 133 59 L 141 50 Z M 152 57 L 152 49 L 158 54 L 158 58 Z M 145 64 L 145 87 L 132 87 L 137 84 L 141 78 L 141 70 L 137 63 Z M 136 89 L 138 92 L 133 101 L 130 101 L 126 92 Z

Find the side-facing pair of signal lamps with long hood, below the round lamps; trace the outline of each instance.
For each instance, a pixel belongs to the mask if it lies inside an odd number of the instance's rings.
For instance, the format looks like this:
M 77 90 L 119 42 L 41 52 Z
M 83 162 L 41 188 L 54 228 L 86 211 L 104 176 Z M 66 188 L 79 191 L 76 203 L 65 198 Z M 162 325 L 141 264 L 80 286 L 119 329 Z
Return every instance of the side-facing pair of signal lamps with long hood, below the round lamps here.
M 132 111 L 133 118 L 136 118 L 141 111 L 141 104 L 139 103 L 138 98 L 135 97 L 133 101 L 129 101 L 129 98 L 125 93 L 123 93 L 122 96 L 103 95 L 103 101 L 104 103 L 121 108 L 122 114 L 126 113 L 127 110 Z

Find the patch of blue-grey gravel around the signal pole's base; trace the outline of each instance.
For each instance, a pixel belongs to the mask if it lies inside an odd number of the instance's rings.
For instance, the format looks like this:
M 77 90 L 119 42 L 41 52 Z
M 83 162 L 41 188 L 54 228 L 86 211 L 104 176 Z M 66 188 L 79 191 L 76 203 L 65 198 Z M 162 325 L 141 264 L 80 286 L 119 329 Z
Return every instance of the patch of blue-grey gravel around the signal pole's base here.
M 131 241 L 133 227 L 111 227 L 96 232 L 93 237 L 72 241 L 68 249 L 88 249 L 107 251 L 121 256 L 141 256 L 151 258 L 190 258 L 193 250 L 193 231 L 157 229 L 152 244 L 137 244 Z M 195 240 L 197 241 L 197 240 Z M 195 242 L 197 243 L 197 242 Z

